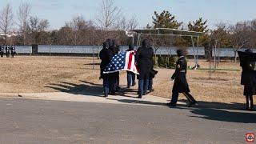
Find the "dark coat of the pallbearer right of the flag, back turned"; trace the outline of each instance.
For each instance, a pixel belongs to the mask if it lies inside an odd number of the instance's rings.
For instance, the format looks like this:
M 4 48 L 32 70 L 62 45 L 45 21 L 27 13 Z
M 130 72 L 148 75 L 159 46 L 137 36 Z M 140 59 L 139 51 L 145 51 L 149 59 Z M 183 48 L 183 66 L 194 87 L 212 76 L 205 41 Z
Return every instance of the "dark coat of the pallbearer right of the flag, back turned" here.
M 139 47 L 136 52 L 136 59 L 138 63 L 138 79 L 149 79 L 150 70 L 153 66 L 154 50 L 149 46 Z

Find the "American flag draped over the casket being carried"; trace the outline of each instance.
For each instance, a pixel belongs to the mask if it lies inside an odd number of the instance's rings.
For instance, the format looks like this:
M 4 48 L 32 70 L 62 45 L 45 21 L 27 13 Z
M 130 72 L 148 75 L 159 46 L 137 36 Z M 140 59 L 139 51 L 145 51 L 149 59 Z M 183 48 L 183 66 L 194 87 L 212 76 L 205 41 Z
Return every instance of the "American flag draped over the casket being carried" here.
M 106 66 L 103 74 L 110 74 L 120 70 L 128 70 L 134 74 L 138 74 L 134 50 L 115 54 L 110 63 Z

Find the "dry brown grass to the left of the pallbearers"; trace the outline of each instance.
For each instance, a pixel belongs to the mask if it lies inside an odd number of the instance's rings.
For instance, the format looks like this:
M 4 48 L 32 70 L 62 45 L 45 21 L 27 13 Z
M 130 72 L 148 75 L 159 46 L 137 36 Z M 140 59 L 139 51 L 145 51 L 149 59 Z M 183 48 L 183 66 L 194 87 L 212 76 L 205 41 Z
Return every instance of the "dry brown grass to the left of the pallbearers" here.
M 0 61 L 1 93 L 57 91 L 47 86 L 98 79 L 98 70 L 91 70 L 92 58 L 18 56 Z

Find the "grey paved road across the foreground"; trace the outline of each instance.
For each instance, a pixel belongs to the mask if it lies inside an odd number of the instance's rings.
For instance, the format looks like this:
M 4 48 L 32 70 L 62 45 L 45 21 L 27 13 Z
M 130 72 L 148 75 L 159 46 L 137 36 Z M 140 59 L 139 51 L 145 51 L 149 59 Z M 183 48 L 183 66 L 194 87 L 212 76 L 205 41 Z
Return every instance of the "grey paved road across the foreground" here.
M 256 113 L 0 98 L 0 143 L 245 143 Z

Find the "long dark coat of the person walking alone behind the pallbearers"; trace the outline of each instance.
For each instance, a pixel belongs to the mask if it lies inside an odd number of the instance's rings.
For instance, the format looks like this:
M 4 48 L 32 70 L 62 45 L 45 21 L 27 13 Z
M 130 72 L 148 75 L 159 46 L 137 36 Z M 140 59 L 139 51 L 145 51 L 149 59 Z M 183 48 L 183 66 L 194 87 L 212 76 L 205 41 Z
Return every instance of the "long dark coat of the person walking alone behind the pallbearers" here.
M 178 61 L 176 62 L 176 70 L 174 74 L 172 75 L 172 79 L 174 80 L 174 87 L 173 87 L 173 93 L 184 93 L 184 92 L 190 92 L 189 85 L 186 81 L 186 59 L 185 57 L 178 58 Z

